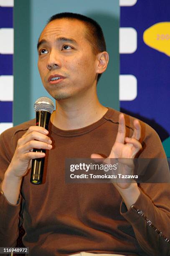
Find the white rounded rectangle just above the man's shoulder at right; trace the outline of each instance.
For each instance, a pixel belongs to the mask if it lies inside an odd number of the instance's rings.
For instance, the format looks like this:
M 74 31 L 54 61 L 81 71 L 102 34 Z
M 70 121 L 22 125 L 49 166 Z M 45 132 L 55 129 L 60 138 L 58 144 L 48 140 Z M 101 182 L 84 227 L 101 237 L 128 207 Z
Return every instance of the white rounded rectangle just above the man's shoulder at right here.
M 119 75 L 119 100 L 134 100 L 136 97 L 136 77 L 130 74 Z

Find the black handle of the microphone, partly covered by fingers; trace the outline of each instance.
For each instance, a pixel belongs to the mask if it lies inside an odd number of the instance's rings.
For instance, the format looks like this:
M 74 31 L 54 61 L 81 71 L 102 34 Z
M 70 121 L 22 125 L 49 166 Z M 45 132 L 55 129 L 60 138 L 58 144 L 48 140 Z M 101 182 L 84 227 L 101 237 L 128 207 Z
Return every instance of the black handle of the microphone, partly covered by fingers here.
M 45 110 L 36 112 L 36 125 L 48 130 L 51 113 Z M 33 149 L 33 152 L 46 153 L 45 149 Z M 42 184 L 45 157 L 32 159 L 30 182 L 32 184 Z

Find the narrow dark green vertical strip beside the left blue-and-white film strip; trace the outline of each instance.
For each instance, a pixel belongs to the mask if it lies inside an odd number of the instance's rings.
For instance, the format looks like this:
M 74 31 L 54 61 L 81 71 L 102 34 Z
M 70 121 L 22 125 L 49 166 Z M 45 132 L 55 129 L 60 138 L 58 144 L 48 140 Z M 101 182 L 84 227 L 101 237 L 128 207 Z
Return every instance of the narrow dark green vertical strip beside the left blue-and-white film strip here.
M 13 123 L 30 119 L 30 3 L 14 2 Z

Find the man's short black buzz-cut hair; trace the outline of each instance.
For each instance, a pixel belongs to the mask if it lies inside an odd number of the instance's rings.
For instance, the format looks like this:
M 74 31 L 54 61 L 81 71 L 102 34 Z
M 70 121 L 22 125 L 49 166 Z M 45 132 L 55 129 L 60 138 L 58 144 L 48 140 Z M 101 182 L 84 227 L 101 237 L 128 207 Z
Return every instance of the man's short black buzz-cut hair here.
M 91 44 L 95 55 L 99 52 L 106 51 L 106 42 L 104 39 L 103 31 L 99 23 L 79 13 L 57 13 L 49 18 L 48 23 L 50 23 L 53 20 L 62 19 L 62 18 L 66 18 L 70 20 L 81 20 L 86 25 L 87 31 L 85 32 L 85 36 L 86 36 L 86 39 Z M 101 74 L 98 74 L 97 82 L 99 81 L 100 77 L 101 77 Z

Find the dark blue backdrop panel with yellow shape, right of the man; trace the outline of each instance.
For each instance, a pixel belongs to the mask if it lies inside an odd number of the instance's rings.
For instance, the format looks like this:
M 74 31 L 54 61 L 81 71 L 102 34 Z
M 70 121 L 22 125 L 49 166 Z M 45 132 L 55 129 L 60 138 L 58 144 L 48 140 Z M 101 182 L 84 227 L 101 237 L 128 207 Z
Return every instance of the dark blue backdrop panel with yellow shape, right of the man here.
M 134 2 L 121 7 L 121 28 L 133 28 L 137 47 L 122 52 L 120 73 L 136 78 L 137 93 L 136 97 L 120 102 L 121 111 L 151 125 L 170 157 L 170 1 Z M 127 32 L 134 45 L 132 36 L 131 31 Z M 127 87 L 134 95 L 132 82 Z

